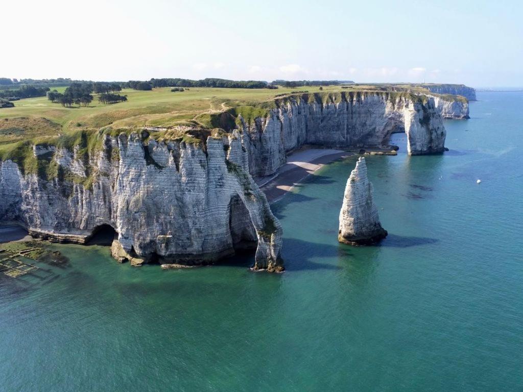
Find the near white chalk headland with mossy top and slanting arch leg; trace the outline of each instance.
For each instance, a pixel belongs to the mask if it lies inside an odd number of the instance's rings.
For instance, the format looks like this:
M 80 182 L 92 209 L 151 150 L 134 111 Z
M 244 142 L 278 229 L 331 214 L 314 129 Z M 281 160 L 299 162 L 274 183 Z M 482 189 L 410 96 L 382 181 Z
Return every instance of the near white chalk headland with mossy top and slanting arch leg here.
M 0 163 L 0 220 L 74 243 L 109 225 L 113 256 L 134 265 L 209 263 L 251 246 L 254 269 L 283 270 L 281 226 L 248 174 L 237 131 L 203 145 L 138 133 L 98 137 L 89 154 L 42 144 L 28 167 Z

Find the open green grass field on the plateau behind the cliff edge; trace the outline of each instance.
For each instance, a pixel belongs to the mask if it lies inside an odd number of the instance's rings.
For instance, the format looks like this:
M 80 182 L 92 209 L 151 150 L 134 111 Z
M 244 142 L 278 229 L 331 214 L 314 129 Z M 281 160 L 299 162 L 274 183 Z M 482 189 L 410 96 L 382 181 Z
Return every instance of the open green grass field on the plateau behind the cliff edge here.
M 409 86 L 403 86 L 408 88 Z M 416 92 L 424 89 L 411 86 Z M 52 89 L 52 88 L 51 88 Z M 65 87 L 56 88 L 63 91 Z M 348 85 L 323 87 L 323 97 L 328 93 L 344 91 L 384 91 L 385 85 Z M 419 91 L 418 91 L 419 90 Z M 134 129 L 143 126 L 201 125 L 202 128 L 226 128 L 242 114 L 251 121 L 266 114 L 274 99 L 300 91 L 318 93 L 320 87 L 303 86 L 278 89 L 206 88 L 195 87 L 185 91 L 170 91 L 170 87 L 152 91 L 125 89 L 121 94 L 128 100 L 112 105 L 98 102 L 97 96 L 88 107 L 62 107 L 47 97 L 15 101 L 14 108 L 0 109 L 0 154 L 15 147 L 17 142 L 35 137 L 56 137 L 59 134 L 94 132 L 110 126 L 113 130 Z M 425 92 L 427 92 L 425 90 Z M 395 93 L 391 93 L 395 94 Z M 339 94 L 331 94 L 337 96 Z M 256 106 L 253 108 L 252 106 Z M 265 110 L 265 112 L 264 112 Z M 226 116 L 215 114 L 229 111 Z M 230 116 L 232 114 L 233 116 Z

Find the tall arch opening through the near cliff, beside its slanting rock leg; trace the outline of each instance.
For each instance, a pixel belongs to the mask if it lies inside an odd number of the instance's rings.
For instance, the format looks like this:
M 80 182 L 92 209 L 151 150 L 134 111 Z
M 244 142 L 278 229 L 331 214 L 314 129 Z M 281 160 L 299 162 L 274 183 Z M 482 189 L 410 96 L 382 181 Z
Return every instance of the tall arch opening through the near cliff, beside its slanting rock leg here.
M 229 202 L 229 229 L 235 252 L 256 250 L 258 237 L 251 221 L 251 215 L 237 194 Z

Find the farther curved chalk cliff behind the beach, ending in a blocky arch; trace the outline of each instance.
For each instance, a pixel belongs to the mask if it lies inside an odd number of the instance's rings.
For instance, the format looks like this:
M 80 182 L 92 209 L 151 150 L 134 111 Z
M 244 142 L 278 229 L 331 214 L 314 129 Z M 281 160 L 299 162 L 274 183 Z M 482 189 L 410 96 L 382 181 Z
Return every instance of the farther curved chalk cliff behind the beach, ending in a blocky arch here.
M 303 144 L 388 148 L 406 132 L 410 155 L 445 151 L 445 127 L 434 97 L 380 91 L 302 94 L 276 101 L 265 118 L 243 121 L 243 144 L 253 176 L 269 176 Z

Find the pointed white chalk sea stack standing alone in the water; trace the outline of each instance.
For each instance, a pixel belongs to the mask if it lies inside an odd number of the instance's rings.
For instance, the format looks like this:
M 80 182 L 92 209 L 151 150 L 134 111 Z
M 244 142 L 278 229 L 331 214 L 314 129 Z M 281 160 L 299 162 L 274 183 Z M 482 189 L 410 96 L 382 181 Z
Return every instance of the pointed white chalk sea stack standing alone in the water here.
M 372 200 L 373 193 L 367 178 L 365 158 L 360 157 L 345 187 L 342 210 L 339 212 L 338 241 L 350 245 L 369 245 L 387 236 Z

